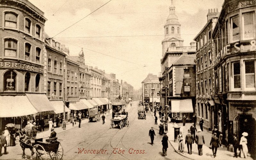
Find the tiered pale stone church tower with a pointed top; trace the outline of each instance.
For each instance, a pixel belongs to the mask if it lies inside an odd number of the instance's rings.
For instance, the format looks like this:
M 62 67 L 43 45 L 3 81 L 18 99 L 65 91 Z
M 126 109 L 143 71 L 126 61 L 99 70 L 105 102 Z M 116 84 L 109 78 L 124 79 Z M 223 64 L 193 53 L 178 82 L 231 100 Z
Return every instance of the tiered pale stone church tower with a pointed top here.
M 173 2 L 169 7 L 169 16 L 164 25 L 164 40 L 162 41 L 163 55 L 167 51 L 168 47 L 182 47 L 183 39 L 180 37 L 181 29 L 178 17 L 175 14 L 175 6 Z

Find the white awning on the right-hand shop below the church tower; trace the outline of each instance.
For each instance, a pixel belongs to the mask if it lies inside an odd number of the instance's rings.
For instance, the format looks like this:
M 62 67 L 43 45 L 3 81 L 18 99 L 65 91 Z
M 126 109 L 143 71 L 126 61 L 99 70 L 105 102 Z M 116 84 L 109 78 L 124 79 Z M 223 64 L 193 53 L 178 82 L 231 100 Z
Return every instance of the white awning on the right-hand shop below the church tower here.
M 172 113 L 193 113 L 193 106 L 191 99 L 185 100 L 171 100 Z

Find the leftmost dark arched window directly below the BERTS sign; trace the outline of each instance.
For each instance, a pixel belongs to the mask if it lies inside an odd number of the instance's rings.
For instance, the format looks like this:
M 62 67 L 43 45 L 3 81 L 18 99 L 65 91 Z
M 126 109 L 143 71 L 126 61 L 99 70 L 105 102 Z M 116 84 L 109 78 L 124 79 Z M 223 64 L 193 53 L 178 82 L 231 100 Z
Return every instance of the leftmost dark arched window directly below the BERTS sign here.
M 4 91 L 15 91 L 17 74 L 9 70 L 4 73 Z

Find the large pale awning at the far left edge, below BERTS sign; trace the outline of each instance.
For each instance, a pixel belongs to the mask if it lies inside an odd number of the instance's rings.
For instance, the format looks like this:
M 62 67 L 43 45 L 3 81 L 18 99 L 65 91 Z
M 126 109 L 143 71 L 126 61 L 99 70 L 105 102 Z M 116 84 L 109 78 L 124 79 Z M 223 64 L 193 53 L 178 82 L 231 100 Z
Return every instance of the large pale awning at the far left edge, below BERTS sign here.
M 0 117 L 27 116 L 36 113 L 36 108 L 25 95 L 0 96 Z

